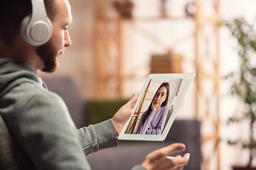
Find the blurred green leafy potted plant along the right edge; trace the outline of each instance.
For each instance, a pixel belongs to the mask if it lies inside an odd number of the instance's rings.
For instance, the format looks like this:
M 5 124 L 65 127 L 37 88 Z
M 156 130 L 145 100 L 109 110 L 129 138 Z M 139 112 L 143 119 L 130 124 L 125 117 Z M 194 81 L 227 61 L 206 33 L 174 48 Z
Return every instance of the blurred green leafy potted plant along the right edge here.
M 233 167 L 238 169 L 256 169 L 252 167 L 252 159 L 256 157 L 256 42 L 255 30 L 244 18 L 238 18 L 223 24 L 227 26 L 232 35 L 238 40 L 238 56 L 240 57 L 240 69 L 231 72 L 226 78 L 232 81 L 231 94 L 237 96 L 243 107 L 240 115 L 230 117 L 228 123 L 247 121 L 249 123 L 249 140 L 228 140 L 230 145 L 240 144 L 243 148 L 250 150 L 250 159 L 247 167 Z M 254 63 L 252 63 L 254 60 Z

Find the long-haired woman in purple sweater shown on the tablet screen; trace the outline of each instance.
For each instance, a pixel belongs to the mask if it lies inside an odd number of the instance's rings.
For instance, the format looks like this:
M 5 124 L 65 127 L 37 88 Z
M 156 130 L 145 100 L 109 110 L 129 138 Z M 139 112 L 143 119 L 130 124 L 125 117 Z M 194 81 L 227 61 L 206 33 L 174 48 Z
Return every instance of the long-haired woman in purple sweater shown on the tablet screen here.
M 137 134 L 161 135 L 168 113 L 168 96 L 170 85 L 164 82 L 157 89 L 147 111 L 142 114 L 137 128 Z

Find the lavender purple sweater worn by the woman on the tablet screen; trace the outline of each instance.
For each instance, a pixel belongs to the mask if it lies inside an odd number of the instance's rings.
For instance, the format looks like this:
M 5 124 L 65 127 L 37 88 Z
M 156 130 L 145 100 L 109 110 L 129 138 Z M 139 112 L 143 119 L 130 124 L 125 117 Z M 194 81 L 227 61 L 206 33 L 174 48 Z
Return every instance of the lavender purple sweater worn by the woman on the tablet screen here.
M 144 112 L 142 118 L 140 118 L 139 120 L 139 125 L 136 133 L 144 135 L 161 135 L 161 132 L 164 129 L 164 123 L 166 121 L 167 113 L 168 105 L 161 107 L 157 112 L 153 110 L 142 125 L 142 120 L 146 114 L 146 112 Z

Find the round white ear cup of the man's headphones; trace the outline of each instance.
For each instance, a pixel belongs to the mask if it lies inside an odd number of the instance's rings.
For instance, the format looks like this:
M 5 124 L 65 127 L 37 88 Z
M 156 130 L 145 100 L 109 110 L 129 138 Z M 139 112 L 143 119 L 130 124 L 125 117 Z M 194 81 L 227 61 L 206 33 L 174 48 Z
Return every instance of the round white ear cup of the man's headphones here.
M 49 18 L 46 21 L 31 21 L 31 16 L 26 16 L 21 23 L 21 36 L 30 45 L 43 45 L 53 32 L 53 26 Z

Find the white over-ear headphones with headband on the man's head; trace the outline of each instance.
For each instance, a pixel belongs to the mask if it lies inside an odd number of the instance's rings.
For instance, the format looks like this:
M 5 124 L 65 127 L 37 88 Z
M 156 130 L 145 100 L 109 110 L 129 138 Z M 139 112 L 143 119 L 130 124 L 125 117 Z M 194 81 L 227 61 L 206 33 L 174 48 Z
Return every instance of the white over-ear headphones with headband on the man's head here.
M 53 33 L 53 26 L 46 13 L 43 0 L 31 0 L 32 15 L 26 16 L 21 23 L 21 36 L 30 45 L 43 45 Z

